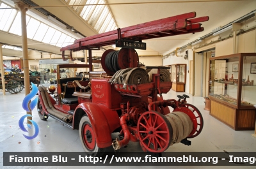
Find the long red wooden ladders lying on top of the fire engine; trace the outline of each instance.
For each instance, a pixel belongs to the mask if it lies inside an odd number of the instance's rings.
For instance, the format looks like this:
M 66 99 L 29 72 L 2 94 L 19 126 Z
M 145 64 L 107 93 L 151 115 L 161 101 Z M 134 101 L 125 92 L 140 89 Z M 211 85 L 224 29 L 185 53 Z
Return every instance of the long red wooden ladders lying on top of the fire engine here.
M 125 27 L 120 29 L 121 38 L 129 40 L 148 40 L 151 38 L 204 31 L 204 27 L 201 27 L 202 24 L 198 22 L 205 22 L 209 20 L 209 17 L 193 18 L 195 16 L 195 12 L 184 13 L 174 17 L 163 18 L 138 24 L 136 26 Z M 107 44 L 115 44 L 115 40 L 117 39 L 118 31 L 110 31 L 108 33 L 97 34 L 76 40 L 73 45 L 68 45 L 67 47 L 61 48 L 61 51 L 77 51 L 83 48 L 92 47 L 99 48 Z

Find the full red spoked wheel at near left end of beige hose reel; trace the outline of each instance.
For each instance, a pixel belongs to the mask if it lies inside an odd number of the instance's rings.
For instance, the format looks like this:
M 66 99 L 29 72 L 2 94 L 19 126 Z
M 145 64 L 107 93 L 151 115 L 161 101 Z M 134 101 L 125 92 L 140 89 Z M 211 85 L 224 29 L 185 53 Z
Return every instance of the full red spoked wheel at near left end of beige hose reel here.
M 170 146 L 172 126 L 159 112 L 150 111 L 141 114 L 137 129 L 140 143 L 147 151 L 163 152 Z

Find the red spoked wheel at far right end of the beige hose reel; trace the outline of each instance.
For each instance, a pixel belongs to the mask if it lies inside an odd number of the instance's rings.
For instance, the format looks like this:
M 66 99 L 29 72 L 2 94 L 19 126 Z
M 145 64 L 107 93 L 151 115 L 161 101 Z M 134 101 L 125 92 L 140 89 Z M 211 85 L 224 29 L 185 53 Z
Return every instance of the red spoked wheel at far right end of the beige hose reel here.
M 180 105 L 180 107 L 188 108 L 189 110 L 191 110 L 191 112 L 193 112 L 193 114 L 196 117 L 197 127 L 195 129 L 195 132 L 191 133 L 191 135 L 189 135 L 188 138 L 194 138 L 194 137 L 198 136 L 204 127 L 204 119 L 203 119 L 202 114 L 200 113 L 198 108 L 196 108 L 194 105 L 191 105 L 188 103 L 183 103 Z

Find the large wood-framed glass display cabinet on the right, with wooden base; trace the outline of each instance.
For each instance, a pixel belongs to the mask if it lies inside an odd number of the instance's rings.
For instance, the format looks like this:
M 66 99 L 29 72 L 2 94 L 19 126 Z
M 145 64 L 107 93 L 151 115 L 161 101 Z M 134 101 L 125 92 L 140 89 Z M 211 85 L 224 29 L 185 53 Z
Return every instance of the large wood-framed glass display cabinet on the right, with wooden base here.
M 256 53 L 210 58 L 210 114 L 236 130 L 255 128 Z

